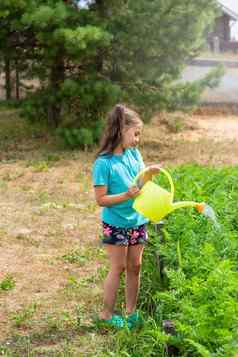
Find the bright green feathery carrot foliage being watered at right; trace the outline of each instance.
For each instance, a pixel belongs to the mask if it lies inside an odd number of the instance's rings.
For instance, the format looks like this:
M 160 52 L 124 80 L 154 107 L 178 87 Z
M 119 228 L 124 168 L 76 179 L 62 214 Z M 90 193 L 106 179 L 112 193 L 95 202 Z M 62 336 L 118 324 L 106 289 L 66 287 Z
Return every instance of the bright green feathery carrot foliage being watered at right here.
M 170 170 L 175 201 L 204 201 L 220 228 L 193 208 L 174 211 L 149 227 L 140 309 L 142 330 L 121 333 L 125 356 L 213 356 L 238 353 L 238 168 L 196 165 Z M 162 176 L 162 175 L 161 175 Z M 159 177 L 159 184 L 165 185 Z M 164 323 L 174 326 L 168 333 Z M 169 354 L 170 353 L 170 354 Z

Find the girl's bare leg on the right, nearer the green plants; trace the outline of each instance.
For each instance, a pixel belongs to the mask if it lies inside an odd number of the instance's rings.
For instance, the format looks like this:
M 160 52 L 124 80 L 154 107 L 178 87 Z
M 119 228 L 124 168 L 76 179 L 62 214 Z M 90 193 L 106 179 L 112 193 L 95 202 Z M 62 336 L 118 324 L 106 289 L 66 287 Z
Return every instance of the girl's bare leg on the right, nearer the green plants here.
M 136 309 L 143 250 L 143 244 L 128 247 L 126 265 L 126 312 L 128 315 Z

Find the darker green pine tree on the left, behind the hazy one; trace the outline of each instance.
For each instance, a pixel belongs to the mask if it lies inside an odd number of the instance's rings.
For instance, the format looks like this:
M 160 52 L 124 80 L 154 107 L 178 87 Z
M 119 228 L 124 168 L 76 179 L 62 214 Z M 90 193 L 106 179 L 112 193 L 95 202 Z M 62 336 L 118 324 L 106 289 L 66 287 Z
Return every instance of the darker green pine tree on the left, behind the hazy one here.
M 41 93 L 46 101 L 43 106 L 49 121 L 57 126 L 67 106 L 70 111 L 75 104 L 72 98 L 77 97 L 80 106 L 87 109 L 91 104 L 87 91 L 93 82 L 95 87 L 99 83 L 97 51 L 108 46 L 110 34 L 73 1 L 31 1 L 22 22 L 35 34 L 36 64 L 47 82 L 46 91 Z

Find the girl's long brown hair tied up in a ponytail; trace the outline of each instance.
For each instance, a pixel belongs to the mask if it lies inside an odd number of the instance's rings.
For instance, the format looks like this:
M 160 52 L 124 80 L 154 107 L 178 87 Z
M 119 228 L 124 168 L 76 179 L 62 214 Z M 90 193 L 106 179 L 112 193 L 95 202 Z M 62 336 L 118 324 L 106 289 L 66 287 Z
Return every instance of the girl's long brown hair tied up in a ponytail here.
M 115 148 L 122 142 L 122 130 L 125 127 L 142 124 L 142 120 L 136 111 L 123 104 L 116 104 L 108 115 L 105 134 L 101 140 L 97 156 L 112 154 Z

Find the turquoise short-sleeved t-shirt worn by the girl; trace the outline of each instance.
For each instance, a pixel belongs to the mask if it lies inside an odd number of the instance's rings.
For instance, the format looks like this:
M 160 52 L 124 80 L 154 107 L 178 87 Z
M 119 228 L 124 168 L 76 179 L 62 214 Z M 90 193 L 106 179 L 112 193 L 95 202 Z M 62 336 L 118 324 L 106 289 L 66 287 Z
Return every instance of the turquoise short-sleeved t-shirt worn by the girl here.
M 107 194 L 127 192 L 133 179 L 144 168 L 138 149 L 126 149 L 123 154 L 100 155 L 93 165 L 94 186 L 107 186 Z M 132 228 L 148 222 L 148 219 L 132 208 L 133 200 L 103 207 L 102 220 L 115 227 Z

